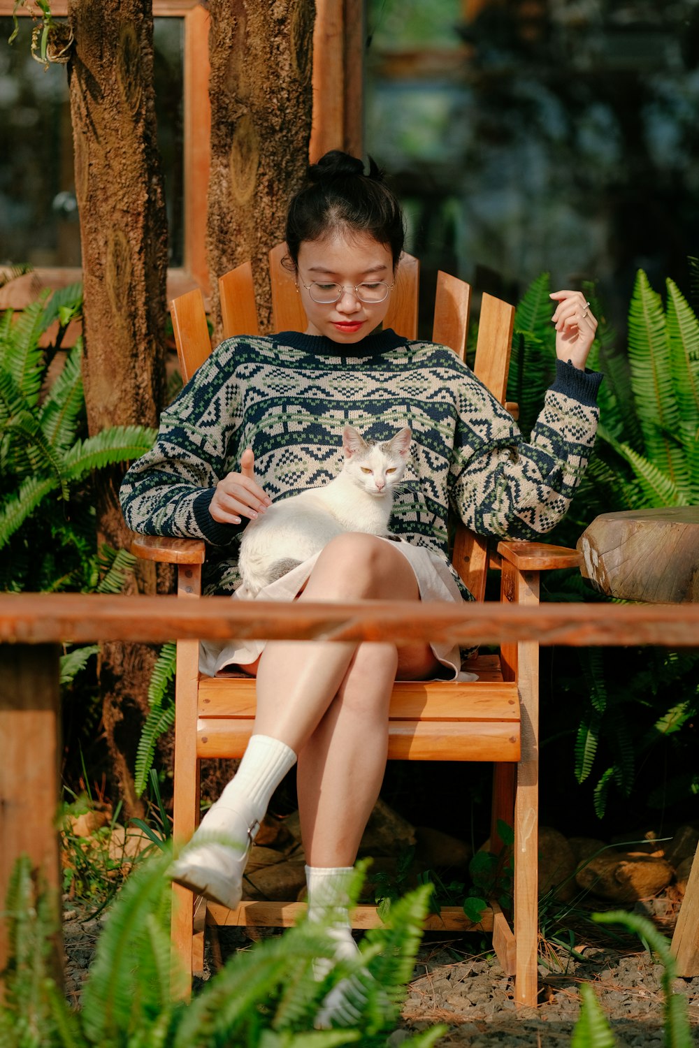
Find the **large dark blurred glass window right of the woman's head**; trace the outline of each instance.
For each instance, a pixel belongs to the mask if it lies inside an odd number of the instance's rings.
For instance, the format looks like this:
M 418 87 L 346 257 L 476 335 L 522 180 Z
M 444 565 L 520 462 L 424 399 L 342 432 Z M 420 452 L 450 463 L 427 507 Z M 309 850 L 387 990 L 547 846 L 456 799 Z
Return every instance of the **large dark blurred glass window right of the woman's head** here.
M 619 325 L 637 268 L 689 290 L 697 0 L 439 0 L 441 53 L 400 36 L 402 0 L 368 3 L 367 150 L 396 175 L 423 266 L 510 299 L 544 270 L 598 279 Z

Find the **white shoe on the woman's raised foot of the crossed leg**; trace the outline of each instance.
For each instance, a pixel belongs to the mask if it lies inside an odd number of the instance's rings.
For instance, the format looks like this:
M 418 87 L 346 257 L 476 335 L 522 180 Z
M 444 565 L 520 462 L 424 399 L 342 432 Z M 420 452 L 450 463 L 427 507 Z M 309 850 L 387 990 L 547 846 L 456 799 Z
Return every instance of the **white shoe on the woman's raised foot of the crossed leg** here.
M 212 805 L 201 825 L 172 864 L 168 876 L 212 902 L 235 910 L 243 894 L 243 873 L 260 823 L 239 810 Z

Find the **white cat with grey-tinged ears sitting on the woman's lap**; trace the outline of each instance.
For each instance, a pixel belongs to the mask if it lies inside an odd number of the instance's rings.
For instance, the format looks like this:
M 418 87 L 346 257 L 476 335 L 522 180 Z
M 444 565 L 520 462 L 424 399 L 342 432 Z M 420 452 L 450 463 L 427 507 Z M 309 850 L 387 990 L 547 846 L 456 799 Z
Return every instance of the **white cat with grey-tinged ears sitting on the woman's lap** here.
M 252 596 L 320 552 L 345 531 L 388 533 L 393 492 L 410 450 L 406 427 L 391 440 L 365 440 L 353 425 L 343 432 L 345 463 L 323 487 L 309 487 L 272 504 L 243 531 L 238 567 Z

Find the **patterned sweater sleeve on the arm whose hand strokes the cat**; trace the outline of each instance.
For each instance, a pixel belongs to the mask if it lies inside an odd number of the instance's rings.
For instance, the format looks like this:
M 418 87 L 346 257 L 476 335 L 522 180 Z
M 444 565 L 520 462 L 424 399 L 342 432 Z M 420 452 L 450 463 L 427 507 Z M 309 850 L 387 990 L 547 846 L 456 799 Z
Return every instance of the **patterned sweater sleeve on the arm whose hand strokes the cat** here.
M 244 524 L 219 524 L 209 512 L 216 484 L 237 458 L 236 389 L 221 363 L 215 353 L 198 369 L 163 411 L 151 451 L 127 472 L 119 499 L 132 530 L 216 546 L 242 530 Z

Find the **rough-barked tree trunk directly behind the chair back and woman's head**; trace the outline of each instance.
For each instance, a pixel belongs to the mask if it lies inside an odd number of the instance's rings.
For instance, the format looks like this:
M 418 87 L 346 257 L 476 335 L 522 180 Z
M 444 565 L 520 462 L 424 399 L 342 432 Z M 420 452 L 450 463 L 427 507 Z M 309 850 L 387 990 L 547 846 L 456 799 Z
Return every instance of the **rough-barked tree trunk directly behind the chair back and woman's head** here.
M 253 263 L 260 330 L 271 301 L 267 252 L 284 239 L 286 206 L 308 166 L 313 0 L 210 0 L 211 179 L 206 253 L 216 278 Z

